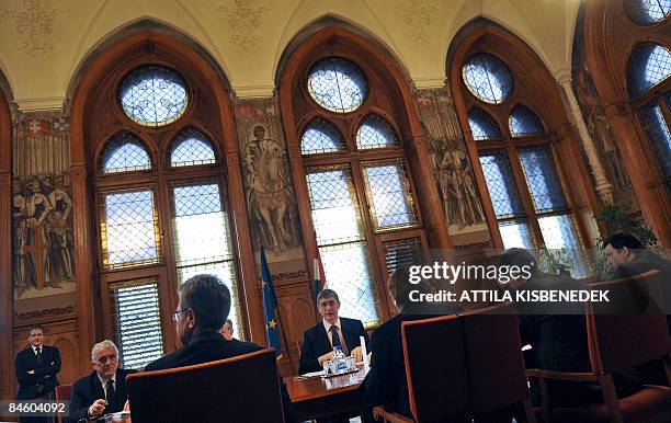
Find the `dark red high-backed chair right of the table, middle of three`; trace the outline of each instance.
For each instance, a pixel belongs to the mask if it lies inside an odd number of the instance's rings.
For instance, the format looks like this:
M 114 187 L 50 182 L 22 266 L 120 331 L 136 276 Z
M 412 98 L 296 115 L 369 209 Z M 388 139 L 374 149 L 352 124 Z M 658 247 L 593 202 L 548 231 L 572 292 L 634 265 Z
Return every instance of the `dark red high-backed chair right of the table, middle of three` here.
M 393 423 L 460 422 L 521 403 L 526 421 L 535 423 L 510 306 L 407 321 L 401 331 L 414 420 L 382 407 L 375 416 Z

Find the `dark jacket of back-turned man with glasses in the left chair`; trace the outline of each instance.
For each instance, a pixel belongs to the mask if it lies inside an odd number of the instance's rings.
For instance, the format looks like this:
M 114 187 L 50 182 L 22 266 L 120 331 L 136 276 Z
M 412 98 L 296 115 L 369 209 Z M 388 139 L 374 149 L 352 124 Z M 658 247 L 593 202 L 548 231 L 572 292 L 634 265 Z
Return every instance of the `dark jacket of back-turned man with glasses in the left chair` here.
M 194 364 L 215 362 L 217 359 L 230 358 L 242 354 L 263 350 L 261 346 L 244 341 L 224 339 L 219 332 L 205 332 L 194 335 L 189 344 L 175 352 L 168 354 L 145 366 L 145 370 L 163 370 L 167 368 L 191 366 Z M 296 412 L 289 399 L 284 380 L 280 387 L 282 393 L 282 407 L 284 409 L 284 421 L 296 422 Z

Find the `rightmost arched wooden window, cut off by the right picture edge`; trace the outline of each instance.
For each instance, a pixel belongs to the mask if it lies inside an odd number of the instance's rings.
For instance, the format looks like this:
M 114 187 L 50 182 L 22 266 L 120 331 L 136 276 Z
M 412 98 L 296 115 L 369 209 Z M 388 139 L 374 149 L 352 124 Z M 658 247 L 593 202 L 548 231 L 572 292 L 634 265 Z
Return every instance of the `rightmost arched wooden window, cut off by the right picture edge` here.
M 584 3 L 584 57 L 638 205 L 671 242 L 671 4 Z

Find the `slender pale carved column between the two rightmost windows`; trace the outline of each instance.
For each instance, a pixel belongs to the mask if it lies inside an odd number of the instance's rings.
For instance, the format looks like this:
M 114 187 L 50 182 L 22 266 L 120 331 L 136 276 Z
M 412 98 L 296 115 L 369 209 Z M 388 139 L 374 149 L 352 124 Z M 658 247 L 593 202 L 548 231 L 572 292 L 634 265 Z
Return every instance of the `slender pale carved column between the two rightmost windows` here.
M 557 83 L 561 87 L 564 93 L 566 94 L 566 99 L 568 100 L 569 110 L 567 112 L 573 116 L 573 122 L 576 123 L 578 134 L 580 135 L 580 140 L 582 141 L 584 152 L 588 157 L 588 162 L 590 163 L 592 174 L 594 175 L 594 182 L 596 183 L 594 190 L 603 203 L 613 203 L 613 185 L 606 178 L 605 170 L 603 169 L 603 164 L 599 158 L 599 152 L 594 146 L 594 140 L 590 136 L 590 132 L 588 130 L 584 119 L 582 118 L 580 105 L 578 105 L 578 99 L 576 99 L 576 94 L 573 93 L 573 89 L 571 87 L 571 71 L 569 69 L 562 69 L 555 75 L 555 78 L 557 79 Z

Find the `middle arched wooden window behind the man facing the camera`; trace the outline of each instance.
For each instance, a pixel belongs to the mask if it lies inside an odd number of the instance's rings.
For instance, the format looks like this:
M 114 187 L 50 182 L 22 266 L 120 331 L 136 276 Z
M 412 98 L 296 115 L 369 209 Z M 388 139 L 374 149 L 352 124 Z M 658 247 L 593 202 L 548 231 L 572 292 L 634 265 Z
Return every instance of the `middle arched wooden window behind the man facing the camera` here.
M 360 81 L 355 108 L 329 110 L 312 100 L 311 72 L 333 61 L 349 64 L 339 78 Z M 293 174 L 309 254 L 318 249 L 341 315 L 366 327 L 389 316 L 384 281 L 396 265 L 423 254 L 425 220 L 433 218 L 420 209 L 423 197 L 413 183 L 430 167 L 411 165 L 428 157 L 408 153 L 420 127 L 403 100 L 403 83 L 385 53 L 342 27 L 323 28 L 298 45 L 280 82 L 289 155 L 299 163 Z

